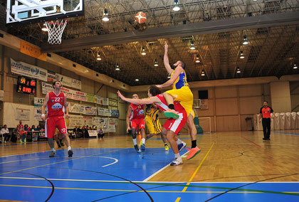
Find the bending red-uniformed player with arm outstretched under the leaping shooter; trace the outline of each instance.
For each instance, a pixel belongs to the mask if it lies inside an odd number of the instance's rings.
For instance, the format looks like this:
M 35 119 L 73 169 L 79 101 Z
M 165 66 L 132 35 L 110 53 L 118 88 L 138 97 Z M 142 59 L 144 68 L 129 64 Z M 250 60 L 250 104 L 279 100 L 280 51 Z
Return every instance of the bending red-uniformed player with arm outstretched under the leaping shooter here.
M 149 99 L 130 99 L 124 97 L 120 93 L 120 91 L 117 91 L 117 95 L 122 100 L 126 102 L 131 102 L 135 105 L 148 105 L 154 103 L 155 105 L 157 105 L 157 107 L 159 107 L 159 109 L 163 110 L 164 112 L 169 110 L 163 94 L 156 86 L 151 86 L 148 90 L 147 95 L 150 97 Z M 178 166 L 179 164 L 183 164 L 182 157 L 179 155 L 179 151 L 186 146 L 186 143 L 184 143 L 184 147 L 178 148 L 178 144 L 182 144 L 183 142 L 180 139 L 178 139 L 175 134 L 178 134 L 179 131 L 184 127 L 184 124 L 187 121 L 187 113 L 186 110 L 184 110 L 184 107 L 182 107 L 182 105 L 179 104 L 179 102 L 174 102 L 174 110 L 177 112 L 177 115 L 179 117 L 177 119 L 167 119 L 167 122 L 165 122 L 163 125 L 162 133 L 166 134 L 166 137 L 172 147 L 172 150 L 174 151 L 175 160 L 172 161 L 170 165 Z

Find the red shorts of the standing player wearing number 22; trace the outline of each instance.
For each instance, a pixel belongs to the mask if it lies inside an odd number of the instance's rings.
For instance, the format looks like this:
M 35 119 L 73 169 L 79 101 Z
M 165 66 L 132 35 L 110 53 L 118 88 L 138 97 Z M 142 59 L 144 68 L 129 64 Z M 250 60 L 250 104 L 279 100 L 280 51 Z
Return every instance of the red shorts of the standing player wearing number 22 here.
M 61 134 L 68 133 L 65 124 L 65 119 L 63 116 L 48 117 L 48 119 L 46 119 L 46 127 L 45 127 L 46 137 L 53 138 L 56 127 Z

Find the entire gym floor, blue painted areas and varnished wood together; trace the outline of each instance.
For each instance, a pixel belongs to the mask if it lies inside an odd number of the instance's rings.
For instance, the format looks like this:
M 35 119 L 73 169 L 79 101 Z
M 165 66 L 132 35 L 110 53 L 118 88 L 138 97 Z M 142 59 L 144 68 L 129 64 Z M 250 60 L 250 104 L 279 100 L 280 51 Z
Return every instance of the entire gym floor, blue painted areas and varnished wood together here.
M 188 134 L 179 138 L 190 147 Z M 180 166 L 169 166 L 174 154 L 159 137 L 147 140 L 142 154 L 130 136 L 75 139 L 73 158 L 66 149 L 49 158 L 47 142 L 1 144 L 0 199 L 298 201 L 299 131 L 262 138 L 262 132 L 198 135 L 201 152 Z

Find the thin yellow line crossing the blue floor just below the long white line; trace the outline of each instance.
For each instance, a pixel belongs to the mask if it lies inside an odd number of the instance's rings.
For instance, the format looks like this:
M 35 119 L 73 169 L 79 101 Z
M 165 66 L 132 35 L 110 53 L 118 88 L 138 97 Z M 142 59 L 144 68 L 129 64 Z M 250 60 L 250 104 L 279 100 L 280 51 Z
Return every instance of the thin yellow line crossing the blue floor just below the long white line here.
M 26 185 L 11 185 L 11 184 L 0 184 L 0 186 L 11 186 L 11 187 L 26 187 L 26 188 L 52 188 L 51 186 L 26 186 Z M 82 190 L 82 191 L 127 191 L 127 192 L 143 192 L 143 190 L 122 190 L 122 189 L 105 189 L 105 188 L 68 188 L 68 187 L 55 187 L 57 189 L 69 189 L 69 190 Z M 150 191 L 151 193 L 183 193 L 183 191 Z M 184 193 L 225 193 L 225 191 L 184 191 Z M 261 191 L 230 191 L 229 193 L 263 193 Z M 298 191 L 283 191 L 282 193 L 299 193 Z M 177 198 L 181 199 L 180 197 Z

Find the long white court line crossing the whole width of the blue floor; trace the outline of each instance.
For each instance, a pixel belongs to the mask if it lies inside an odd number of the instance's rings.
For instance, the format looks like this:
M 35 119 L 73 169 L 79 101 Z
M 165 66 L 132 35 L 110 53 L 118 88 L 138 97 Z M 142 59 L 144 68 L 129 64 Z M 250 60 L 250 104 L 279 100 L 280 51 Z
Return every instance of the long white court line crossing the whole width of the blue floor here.
M 3 177 L 1 176 L 0 179 L 28 179 L 28 180 L 45 180 L 41 178 L 26 178 L 26 177 Z M 109 180 L 95 180 L 95 179 L 48 179 L 50 181 L 83 181 L 83 182 L 107 182 L 107 183 L 130 183 L 128 181 L 109 181 Z M 178 184 L 178 183 L 187 183 L 187 181 L 132 181 L 135 183 L 145 183 L 145 184 Z M 192 184 L 236 184 L 236 183 L 253 183 L 255 181 L 192 181 Z M 261 181 L 258 182 L 258 184 L 269 184 L 269 183 L 276 183 L 276 184 L 281 184 L 281 183 L 292 183 L 292 184 L 299 184 L 297 181 Z

